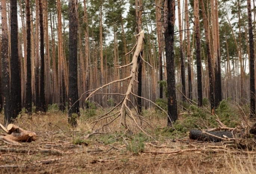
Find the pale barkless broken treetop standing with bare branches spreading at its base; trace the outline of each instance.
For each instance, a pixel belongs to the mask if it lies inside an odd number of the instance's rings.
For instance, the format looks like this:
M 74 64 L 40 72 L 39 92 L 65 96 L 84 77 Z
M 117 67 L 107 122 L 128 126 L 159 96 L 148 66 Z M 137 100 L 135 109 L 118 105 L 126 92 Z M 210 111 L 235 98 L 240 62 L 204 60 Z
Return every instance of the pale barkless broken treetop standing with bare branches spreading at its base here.
M 133 49 L 129 52 L 131 53 L 135 47 L 136 47 L 136 50 L 135 50 L 135 53 L 133 55 L 133 58 L 132 58 L 132 62 L 127 64 L 127 65 L 123 65 L 123 66 L 117 66 L 118 69 L 120 68 L 126 68 L 127 66 L 131 66 L 131 70 L 130 70 L 130 75 L 126 78 L 123 78 L 123 79 L 120 79 L 120 80 L 115 80 L 115 81 L 112 81 L 108 84 L 105 84 L 103 85 L 102 87 L 99 87 L 97 88 L 96 90 L 94 90 L 92 93 L 90 93 L 90 95 L 86 98 L 86 100 L 88 100 L 91 96 L 93 96 L 93 94 L 95 94 L 98 90 L 101 90 L 102 88 L 105 88 L 107 86 L 110 86 L 111 84 L 113 83 L 119 83 L 121 81 L 129 81 L 129 85 L 128 85 L 128 88 L 127 88 L 127 91 L 125 94 L 120 94 L 123 96 L 123 99 L 121 100 L 120 103 L 118 103 L 114 108 L 112 108 L 110 111 L 108 111 L 107 113 L 105 113 L 104 115 L 101 115 L 99 116 L 99 118 L 95 121 L 92 122 L 92 124 L 96 124 L 97 122 L 103 120 L 103 119 L 107 119 L 107 118 L 111 118 L 111 120 L 109 122 L 107 122 L 106 124 L 104 124 L 102 126 L 102 128 L 108 124 L 111 124 L 112 122 L 114 122 L 117 118 L 120 119 L 119 121 L 119 125 L 118 125 L 118 130 L 120 130 L 120 127 L 121 125 L 124 125 L 126 128 L 127 128 L 127 125 L 126 125 L 126 116 L 128 116 L 130 119 L 132 119 L 135 124 L 141 129 L 141 127 L 139 126 L 138 122 L 136 121 L 136 118 L 135 116 L 138 116 L 138 118 L 140 119 L 140 121 L 145 121 L 145 119 L 142 118 L 142 116 L 139 115 L 139 112 L 138 112 L 138 109 L 136 109 L 136 107 L 133 105 L 133 103 L 131 102 L 131 100 L 129 99 L 129 96 L 134 96 L 134 97 L 138 97 L 136 96 L 134 93 L 133 93 L 133 84 L 135 82 L 138 82 L 136 81 L 136 72 L 138 71 L 137 70 L 137 67 L 138 67 L 138 57 L 140 56 L 140 59 L 142 61 L 145 61 L 142 56 L 141 56 L 141 48 L 142 48 L 142 43 L 144 41 L 144 30 L 142 30 L 141 32 L 139 32 L 139 34 L 136 35 L 138 37 L 138 41 L 137 43 L 135 44 L 135 46 L 133 47 Z M 129 54 L 127 53 L 127 54 Z M 148 62 L 146 62 L 148 63 Z M 151 65 L 149 65 L 151 66 Z M 151 66 L 152 67 L 152 66 Z M 131 94 L 131 95 L 130 95 Z M 133 106 L 133 108 L 135 109 L 135 112 L 133 112 L 128 106 L 127 106 L 127 102 L 130 102 Z M 112 112 L 116 109 L 120 107 L 120 109 L 117 111 L 117 112 L 114 112 L 114 114 L 112 114 Z M 113 117 L 113 118 L 112 118 Z M 123 124 L 123 121 L 124 121 L 124 124 Z M 142 130 L 142 129 L 141 129 Z M 142 130 L 144 132 L 144 130 Z

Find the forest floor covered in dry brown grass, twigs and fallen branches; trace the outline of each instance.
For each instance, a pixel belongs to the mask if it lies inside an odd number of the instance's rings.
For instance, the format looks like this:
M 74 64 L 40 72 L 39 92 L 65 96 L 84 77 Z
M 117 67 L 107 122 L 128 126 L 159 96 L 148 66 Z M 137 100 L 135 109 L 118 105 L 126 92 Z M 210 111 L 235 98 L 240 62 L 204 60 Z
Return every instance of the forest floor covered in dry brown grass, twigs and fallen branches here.
M 158 118 L 156 122 L 165 125 L 166 119 Z M 256 173 L 255 149 L 237 149 L 230 142 L 190 141 L 188 134 L 182 138 L 157 133 L 153 138 L 142 133 L 94 134 L 88 131 L 86 121 L 71 128 L 67 114 L 58 111 L 47 115 L 24 114 L 14 124 L 35 131 L 37 140 L 22 146 L 0 141 L 0 173 Z

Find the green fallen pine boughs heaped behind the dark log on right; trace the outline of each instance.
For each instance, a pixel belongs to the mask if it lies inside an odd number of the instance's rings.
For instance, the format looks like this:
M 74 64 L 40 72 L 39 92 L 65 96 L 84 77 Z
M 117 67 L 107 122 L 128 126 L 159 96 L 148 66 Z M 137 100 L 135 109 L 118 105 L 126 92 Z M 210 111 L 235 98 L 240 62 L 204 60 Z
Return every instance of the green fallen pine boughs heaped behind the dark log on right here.
M 205 100 L 208 102 L 208 100 Z M 172 127 L 157 129 L 157 135 L 171 138 L 186 137 L 190 129 L 207 129 L 218 127 L 217 117 L 210 114 L 209 108 L 198 108 L 195 105 L 188 107 L 188 113 L 182 115 L 182 118 L 173 122 Z M 219 108 L 216 109 L 216 115 L 219 120 L 227 127 L 235 127 L 239 121 L 239 115 L 234 110 L 234 104 L 231 101 L 222 100 Z M 245 112 L 245 111 L 244 111 Z

